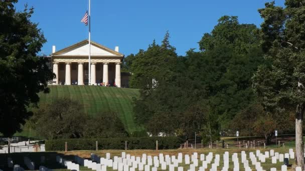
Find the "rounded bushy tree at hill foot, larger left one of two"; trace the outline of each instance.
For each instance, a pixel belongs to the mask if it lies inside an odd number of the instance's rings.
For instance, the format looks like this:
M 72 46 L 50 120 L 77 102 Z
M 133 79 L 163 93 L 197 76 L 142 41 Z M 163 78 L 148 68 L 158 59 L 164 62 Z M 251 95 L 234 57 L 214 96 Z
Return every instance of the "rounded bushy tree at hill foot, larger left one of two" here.
M 82 137 L 88 116 L 80 106 L 78 101 L 58 98 L 53 103 L 40 106 L 31 117 L 31 124 L 47 139 Z

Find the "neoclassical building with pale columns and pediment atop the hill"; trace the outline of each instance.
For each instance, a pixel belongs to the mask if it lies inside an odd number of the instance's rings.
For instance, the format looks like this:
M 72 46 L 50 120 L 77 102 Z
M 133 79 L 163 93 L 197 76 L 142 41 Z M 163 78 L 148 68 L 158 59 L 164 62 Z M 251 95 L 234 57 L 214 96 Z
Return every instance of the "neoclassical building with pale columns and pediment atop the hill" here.
M 56 51 L 53 45 L 52 64 L 56 78 L 53 84 L 88 84 L 89 41 L 83 40 Z M 91 84 L 102 83 L 117 87 L 128 87 L 128 76 L 121 78 L 120 65 L 124 55 L 115 50 L 91 41 Z

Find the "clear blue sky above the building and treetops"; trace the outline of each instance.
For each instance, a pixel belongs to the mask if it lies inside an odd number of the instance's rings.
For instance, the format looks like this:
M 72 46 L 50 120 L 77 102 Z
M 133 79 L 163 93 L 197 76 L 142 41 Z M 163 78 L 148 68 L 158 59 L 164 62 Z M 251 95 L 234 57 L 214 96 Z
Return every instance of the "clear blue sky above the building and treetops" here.
M 257 12 L 271 0 L 91 0 L 91 39 L 125 56 L 146 49 L 154 39 L 161 43 L 166 30 L 179 55 L 210 32 L 222 15 L 237 15 L 240 23 L 260 25 Z M 284 0 L 275 0 L 282 5 Z M 52 45 L 59 50 L 88 38 L 88 28 L 80 23 L 88 0 L 19 0 L 35 8 L 32 21 L 39 23 L 47 43 L 42 53 L 49 55 Z

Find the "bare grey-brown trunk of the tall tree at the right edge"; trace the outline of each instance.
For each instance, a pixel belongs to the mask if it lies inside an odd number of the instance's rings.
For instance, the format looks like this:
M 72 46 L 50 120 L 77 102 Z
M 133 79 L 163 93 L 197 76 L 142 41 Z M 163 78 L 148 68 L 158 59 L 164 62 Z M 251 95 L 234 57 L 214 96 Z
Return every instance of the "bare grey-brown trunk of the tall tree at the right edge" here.
M 304 104 L 297 104 L 295 112 L 295 161 L 296 165 L 304 170 L 304 143 L 303 143 L 303 113 Z

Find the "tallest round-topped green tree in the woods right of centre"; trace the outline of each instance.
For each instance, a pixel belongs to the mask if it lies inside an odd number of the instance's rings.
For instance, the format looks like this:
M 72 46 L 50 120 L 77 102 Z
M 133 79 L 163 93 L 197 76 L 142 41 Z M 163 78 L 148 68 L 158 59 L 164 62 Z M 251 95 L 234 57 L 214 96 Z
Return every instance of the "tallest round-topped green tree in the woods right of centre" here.
M 219 116 L 222 129 L 253 100 L 251 77 L 264 61 L 260 40 L 254 24 L 241 24 L 237 16 L 225 15 L 199 41 L 201 57 L 188 58 L 189 75 L 198 75 L 194 78 L 205 88 L 210 112 Z

